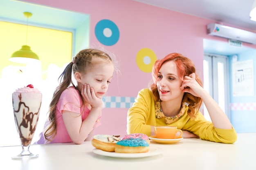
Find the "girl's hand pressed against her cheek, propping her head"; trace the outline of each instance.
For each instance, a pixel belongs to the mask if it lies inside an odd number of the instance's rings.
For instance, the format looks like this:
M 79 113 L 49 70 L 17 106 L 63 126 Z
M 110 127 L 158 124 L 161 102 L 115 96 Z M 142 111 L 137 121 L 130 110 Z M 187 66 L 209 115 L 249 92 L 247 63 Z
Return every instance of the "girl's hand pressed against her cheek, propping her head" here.
M 93 87 L 89 84 L 82 86 L 81 94 L 86 103 L 89 103 L 93 108 L 102 107 L 102 101 L 95 95 Z

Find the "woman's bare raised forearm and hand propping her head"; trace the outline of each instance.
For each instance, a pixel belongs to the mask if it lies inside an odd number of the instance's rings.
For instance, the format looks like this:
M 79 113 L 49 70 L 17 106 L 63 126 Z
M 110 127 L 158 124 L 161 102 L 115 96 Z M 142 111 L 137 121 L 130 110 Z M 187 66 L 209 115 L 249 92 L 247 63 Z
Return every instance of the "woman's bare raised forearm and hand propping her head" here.
M 185 88 L 189 87 L 189 88 Z M 216 103 L 213 98 L 207 93 L 203 87 L 201 87 L 198 82 L 195 80 L 195 73 L 192 73 L 189 76 L 184 77 L 184 82 L 180 87 L 182 92 L 188 92 L 193 96 L 198 96 L 202 98 L 204 105 L 206 106 L 209 115 L 211 117 L 211 121 L 215 128 L 219 129 L 232 129 L 232 125 L 226 116 L 226 114 L 219 107 L 218 103 Z

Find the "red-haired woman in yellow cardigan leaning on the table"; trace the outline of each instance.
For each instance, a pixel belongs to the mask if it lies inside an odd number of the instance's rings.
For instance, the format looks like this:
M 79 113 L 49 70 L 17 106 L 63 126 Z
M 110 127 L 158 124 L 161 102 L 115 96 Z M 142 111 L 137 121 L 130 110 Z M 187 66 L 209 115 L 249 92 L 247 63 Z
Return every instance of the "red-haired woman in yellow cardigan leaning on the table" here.
M 176 126 L 184 138 L 234 143 L 236 131 L 226 114 L 203 89 L 193 62 L 168 54 L 153 65 L 153 84 L 142 89 L 128 110 L 127 133 L 155 135 L 154 126 Z M 211 122 L 199 111 L 204 102 Z

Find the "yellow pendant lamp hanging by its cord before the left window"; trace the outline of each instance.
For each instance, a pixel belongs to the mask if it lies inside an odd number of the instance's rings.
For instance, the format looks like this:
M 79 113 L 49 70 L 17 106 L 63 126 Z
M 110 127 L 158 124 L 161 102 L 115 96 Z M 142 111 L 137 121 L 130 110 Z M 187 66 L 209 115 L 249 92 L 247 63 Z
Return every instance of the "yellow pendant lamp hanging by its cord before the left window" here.
M 27 18 L 27 29 L 28 29 L 28 18 L 32 16 L 32 13 L 30 12 L 24 12 L 24 16 Z M 9 58 L 10 61 L 16 62 L 16 63 L 31 63 L 35 61 L 39 61 L 39 57 L 36 53 L 31 51 L 30 47 L 27 45 L 27 34 L 26 34 L 26 45 L 22 45 L 21 49 L 18 51 L 15 51 L 11 58 Z

